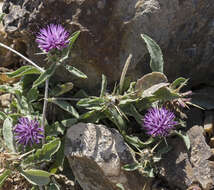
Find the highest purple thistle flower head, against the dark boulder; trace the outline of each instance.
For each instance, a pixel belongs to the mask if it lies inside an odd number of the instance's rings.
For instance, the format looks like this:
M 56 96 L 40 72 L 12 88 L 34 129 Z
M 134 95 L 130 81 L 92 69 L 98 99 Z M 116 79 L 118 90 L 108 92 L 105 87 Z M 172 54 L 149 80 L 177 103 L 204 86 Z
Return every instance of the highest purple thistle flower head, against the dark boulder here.
M 36 42 L 47 53 L 52 49 L 61 50 L 69 44 L 69 33 L 60 24 L 50 24 L 40 30 Z

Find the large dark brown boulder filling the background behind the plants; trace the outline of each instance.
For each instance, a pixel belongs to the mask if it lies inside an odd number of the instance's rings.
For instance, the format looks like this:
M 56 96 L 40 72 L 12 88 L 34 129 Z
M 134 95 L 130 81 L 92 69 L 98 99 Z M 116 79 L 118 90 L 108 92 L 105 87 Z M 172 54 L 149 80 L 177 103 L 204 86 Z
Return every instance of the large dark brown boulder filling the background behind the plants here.
M 88 88 L 100 84 L 102 73 L 110 83 L 118 80 L 130 53 L 133 79 L 150 71 L 142 33 L 161 46 L 169 80 L 183 76 L 192 85 L 212 83 L 213 9 L 212 0 L 5 0 L 3 6 L 8 37 L 23 42 L 28 56 L 41 65 L 44 57 L 35 56 L 39 50 L 34 41 L 40 27 L 60 22 L 70 32 L 80 30 L 68 63 L 88 80 L 72 78 L 62 68 L 58 75 Z

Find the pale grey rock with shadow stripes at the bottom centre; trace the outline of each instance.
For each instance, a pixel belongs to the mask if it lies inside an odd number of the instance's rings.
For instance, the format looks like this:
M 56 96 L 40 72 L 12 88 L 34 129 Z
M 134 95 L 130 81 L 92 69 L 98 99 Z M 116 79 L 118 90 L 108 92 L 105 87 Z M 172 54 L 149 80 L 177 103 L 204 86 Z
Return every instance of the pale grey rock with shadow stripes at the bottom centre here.
M 146 183 L 137 171 L 121 169 L 133 163 L 133 156 L 122 136 L 104 125 L 73 125 L 67 131 L 65 155 L 84 190 L 115 190 L 117 183 L 126 190 L 142 190 Z

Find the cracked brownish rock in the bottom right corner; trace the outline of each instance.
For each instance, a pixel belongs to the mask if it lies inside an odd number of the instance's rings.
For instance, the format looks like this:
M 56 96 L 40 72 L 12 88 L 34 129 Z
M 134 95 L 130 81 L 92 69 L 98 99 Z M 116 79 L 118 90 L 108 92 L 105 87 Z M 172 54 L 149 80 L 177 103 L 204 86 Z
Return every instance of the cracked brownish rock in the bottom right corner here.
M 198 183 L 204 190 L 214 187 L 213 161 L 209 159 L 213 155 L 203 136 L 203 128 L 193 126 L 188 130 L 191 148 L 187 150 L 183 141 L 179 138 L 169 142 L 173 150 L 163 157 L 160 162 L 160 174 L 167 180 L 171 188 L 187 189 Z

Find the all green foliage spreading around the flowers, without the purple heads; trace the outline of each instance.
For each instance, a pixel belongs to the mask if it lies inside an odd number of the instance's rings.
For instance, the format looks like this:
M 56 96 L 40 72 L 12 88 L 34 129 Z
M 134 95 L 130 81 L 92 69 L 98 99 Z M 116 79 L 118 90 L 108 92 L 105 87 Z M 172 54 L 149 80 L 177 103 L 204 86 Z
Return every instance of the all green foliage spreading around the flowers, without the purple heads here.
M 111 128 L 117 128 L 135 156 L 135 161 L 123 166 L 123 169 L 126 171 L 138 170 L 147 177 L 155 177 L 158 173 L 157 162 L 162 159 L 163 154 L 173 148 L 165 143 L 166 138 L 148 136 L 142 128 L 142 120 L 147 109 L 151 107 L 166 106 L 169 103 L 173 105 L 174 102 L 183 101 L 184 95 L 180 93 L 180 90 L 188 80 L 180 77 L 171 84 L 168 82 L 167 77 L 163 74 L 164 61 L 161 49 L 147 35 L 142 35 L 142 38 L 151 57 L 151 73 L 142 76 L 137 81 L 131 81 L 131 78 L 127 76 L 132 58 L 130 55 L 122 70 L 120 82 L 115 84 L 112 92 L 107 90 L 107 78 L 102 75 L 99 96 L 88 96 L 83 89 L 76 92 L 72 82 L 52 84 L 53 81 L 50 81 L 47 88 L 49 97 L 43 98 L 44 86 L 42 84 L 49 80 L 54 75 L 56 68 L 69 57 L 79 34 L 80 32 L 77 31 L 70 37 L 69 47 L 64 48 L 63 51 L 58 53 L 53 51 L 47 54 L 47 60 L 53 61 L 47 70 L 42 71 L 38 67 L 23 66 L 7 73 L 11 78 L 21 77 L 18 83 L 0 85 L 0 92 L 12 95 L 9 107 L 0 112 L 0 120 L 4 120 L 2 132 L 4 143 L 13 153 L 10 154 L 11 158 L 6 161 L 9 169 L 7 168 L 8 170 L 6 169 L 0 176 L 0 187 L 5 179 L 15 171 L 20 172 L 34 186 L 46 186 L 45 188 L 49 190 L 60 189 L 53 174 L 63 171 L 65 133 L 68 127 L 78 122 L 102 123 Z M 63 66 L 72 75 L 80 79 L 87 78 L 77 68 L 66 64 Z M 67 97 L 69 95 L 72 95 L 72 98 Z M 69 100 L 77 102 L 71 103 Z M 53 117 L 45 120 L 45 144 L 34 145 L 32 148 L 27 147 L 16 153 L 13 126 L 22 116 L 41 120 L 44 116 L 42 105 L 46 101 L 49 102 L 48 105 L 55 104 L 66 111 L 63 111 L 62 119 L 61 115 L 57 113 L 56 119 Z M 177 107 L 175 109 L 172 106 L 171 109 L 177 111 Z M 60 117 L 58 117 L 59 115 Z M 189 138 L 182 131 L 175 129 L 171 135 L 180 136 L 187 148 L 190 148 Z M 47 171 L 40 170 L 41 168 L 45 168 Z M 124 189 L 122 184 L 117 184 L 117 187 Z

